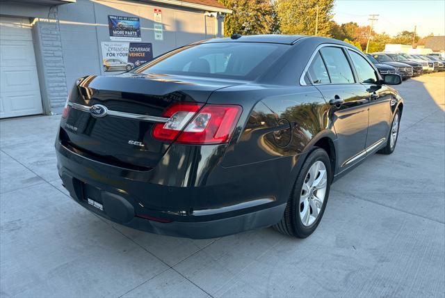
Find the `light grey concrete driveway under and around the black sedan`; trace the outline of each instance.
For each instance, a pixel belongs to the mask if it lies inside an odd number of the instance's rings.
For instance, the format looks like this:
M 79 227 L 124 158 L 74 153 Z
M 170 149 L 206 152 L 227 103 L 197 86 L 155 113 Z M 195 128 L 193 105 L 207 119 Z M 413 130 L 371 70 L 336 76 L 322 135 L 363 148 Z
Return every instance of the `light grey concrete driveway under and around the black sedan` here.
M 445 295 L 445 77 L 410 79 L 398 148 L 336 182 L 318 230 L 213 240 L 141 233 L 74 203 L 60 116 L 3 120 L 1 297 Z

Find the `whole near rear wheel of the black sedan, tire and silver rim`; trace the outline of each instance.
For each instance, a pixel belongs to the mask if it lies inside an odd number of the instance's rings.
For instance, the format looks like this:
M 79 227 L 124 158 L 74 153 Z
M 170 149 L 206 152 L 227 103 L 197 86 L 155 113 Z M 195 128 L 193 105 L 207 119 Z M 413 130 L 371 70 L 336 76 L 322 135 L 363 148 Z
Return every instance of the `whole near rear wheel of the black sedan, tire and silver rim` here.
M 284 216 L 274 228 L 298 238 L 314 233 L 325 212 L 330 183 L 330 159 L 325 150 L 318 148 L 302 165 Z

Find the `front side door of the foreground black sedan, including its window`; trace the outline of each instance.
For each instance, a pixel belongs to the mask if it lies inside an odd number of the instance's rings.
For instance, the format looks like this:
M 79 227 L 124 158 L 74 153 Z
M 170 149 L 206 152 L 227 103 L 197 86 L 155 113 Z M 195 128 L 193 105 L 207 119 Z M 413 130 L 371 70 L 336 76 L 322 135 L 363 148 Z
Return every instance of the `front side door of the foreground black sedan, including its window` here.
M 369 125 L 366 136 L 366 150 L 371 154 L 381 143 L 385 142 L 391 125 L 391 93 L 386 86 L 380 84 L 375 69 L 358 52 L 348 49 L 353 61 L 359 82 L 366 87 L 369 93 Z

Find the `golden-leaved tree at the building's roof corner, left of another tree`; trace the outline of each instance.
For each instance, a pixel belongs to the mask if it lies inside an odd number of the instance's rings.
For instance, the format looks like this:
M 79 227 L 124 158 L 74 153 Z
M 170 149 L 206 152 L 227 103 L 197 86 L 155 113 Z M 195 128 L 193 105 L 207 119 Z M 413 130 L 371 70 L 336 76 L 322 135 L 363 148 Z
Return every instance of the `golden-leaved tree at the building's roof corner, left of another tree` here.
M 243 35 L 272 33 L 275 28 L 273 4 L 263 0 L 220 0 L 232 14 L 224 19 L 224 34 Z

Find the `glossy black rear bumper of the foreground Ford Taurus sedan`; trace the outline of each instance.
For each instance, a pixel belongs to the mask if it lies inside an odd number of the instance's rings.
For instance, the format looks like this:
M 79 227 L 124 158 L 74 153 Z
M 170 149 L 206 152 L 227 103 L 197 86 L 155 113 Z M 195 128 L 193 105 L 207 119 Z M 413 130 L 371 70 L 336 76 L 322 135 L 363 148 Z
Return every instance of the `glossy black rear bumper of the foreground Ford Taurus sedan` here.
M 230 173 L 221 175 L 220 185 L 172 187 L 154 184 L 149 176 L 140 178 L 138 173 L 81 157 L 58 142 L 56 155 L 60 178 L 74 201 L 101 217 L 149 233 L 194 239 L 221 237 L 272 226 L 280 221 L 286 208 L 287 200 L 280 200 L 281 195 L 275 193 L 286 192 L 285 187 L 280 189 L 286 181 L 268 185 L 259 175 L 258 166 L 270 169 L 268 162 L 236 169 L 256 174 L 256 180 L 245 175 L 242 189 L 236 183 L 227 185 L 224 177 Z M 273 164 L 280 165 L 280 162 Z M 251 166 L 256 168 L 249 168 Z M 269 173 L 264 173 L 267 178 Z M 85 185 L 97 189 L 93 199 L 100 208 L 88 203 Z M 141 200 L 140 194 L 145 194 L 147 199 Z M 245 201 L 240 202 L 242 196 Z M 202 202 L 203 197 L 211 201 L 211 205 L 197 203 Z

